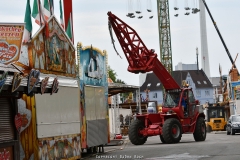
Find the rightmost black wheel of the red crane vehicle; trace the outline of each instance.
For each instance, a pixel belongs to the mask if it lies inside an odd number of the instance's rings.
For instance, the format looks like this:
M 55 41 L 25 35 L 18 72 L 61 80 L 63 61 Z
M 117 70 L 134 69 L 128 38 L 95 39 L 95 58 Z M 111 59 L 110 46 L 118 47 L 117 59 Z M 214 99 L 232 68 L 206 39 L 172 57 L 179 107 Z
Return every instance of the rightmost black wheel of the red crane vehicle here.
M 206 135 L 207 135 L 206 124 L 204 122 L 204 119 L 202 117 L 199 117 L 197 119 L 193 137 L 194 137 L 195 141 L 205 141 Z

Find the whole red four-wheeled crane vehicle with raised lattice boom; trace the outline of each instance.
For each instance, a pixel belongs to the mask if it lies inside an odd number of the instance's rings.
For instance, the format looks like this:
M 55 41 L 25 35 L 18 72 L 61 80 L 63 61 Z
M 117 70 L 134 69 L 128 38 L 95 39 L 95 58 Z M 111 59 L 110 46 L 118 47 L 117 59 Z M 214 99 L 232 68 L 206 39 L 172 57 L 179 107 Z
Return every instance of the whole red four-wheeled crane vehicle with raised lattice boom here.
M 159 135 L 163 143 L 178 143 L 183 133 L 193 133 L 195 141 L 204 141 L 205 115 L 192 89 L 188 85 L 182 88 L 178 85 L 158 60 L 154 50 L 145 46 L 133 28 L 111 12 L 108 12 L 108 20 L 112 42 L 113 29 L 128 60 L 128 71 L 153 71 L 165 88 L 162 112 L 136 115 L 129 128 L 130 141 L 134 145 L 142 145 L 148 137 Z

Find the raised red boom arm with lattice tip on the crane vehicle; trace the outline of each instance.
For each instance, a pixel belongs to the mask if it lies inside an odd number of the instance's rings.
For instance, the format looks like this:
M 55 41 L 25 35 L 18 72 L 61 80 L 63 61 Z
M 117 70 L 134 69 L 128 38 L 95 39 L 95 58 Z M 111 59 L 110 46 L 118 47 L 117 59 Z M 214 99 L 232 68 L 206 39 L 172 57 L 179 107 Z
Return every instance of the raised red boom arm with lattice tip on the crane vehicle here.
M 154 50 L 147 49 L 134 29 L 111 12 L 108 12 L 108 20 L 128 60 L 129 72 L 145 73 L 153 71 L 165 89 L 180 89 L 177 82 L 157 59 Z

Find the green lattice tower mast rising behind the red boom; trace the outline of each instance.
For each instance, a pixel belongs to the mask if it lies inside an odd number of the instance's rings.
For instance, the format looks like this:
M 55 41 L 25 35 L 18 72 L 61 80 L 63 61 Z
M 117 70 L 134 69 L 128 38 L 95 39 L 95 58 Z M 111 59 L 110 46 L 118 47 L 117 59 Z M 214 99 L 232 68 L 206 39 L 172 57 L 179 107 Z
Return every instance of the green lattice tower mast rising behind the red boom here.
M 157 0 L 160 61 L 172 74 L 172 46 L 170 34 L 169 1 Z

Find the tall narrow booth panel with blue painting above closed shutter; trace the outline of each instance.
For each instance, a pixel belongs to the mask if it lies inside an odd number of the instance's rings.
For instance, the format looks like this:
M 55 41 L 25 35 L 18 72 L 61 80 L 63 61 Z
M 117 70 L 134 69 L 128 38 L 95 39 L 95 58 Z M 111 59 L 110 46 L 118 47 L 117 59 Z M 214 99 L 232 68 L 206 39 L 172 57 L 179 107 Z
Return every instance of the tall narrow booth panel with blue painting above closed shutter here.
M 81 93 L 81 146 L 83 149 L 109 142 L 107 54 L 78 43 Z

